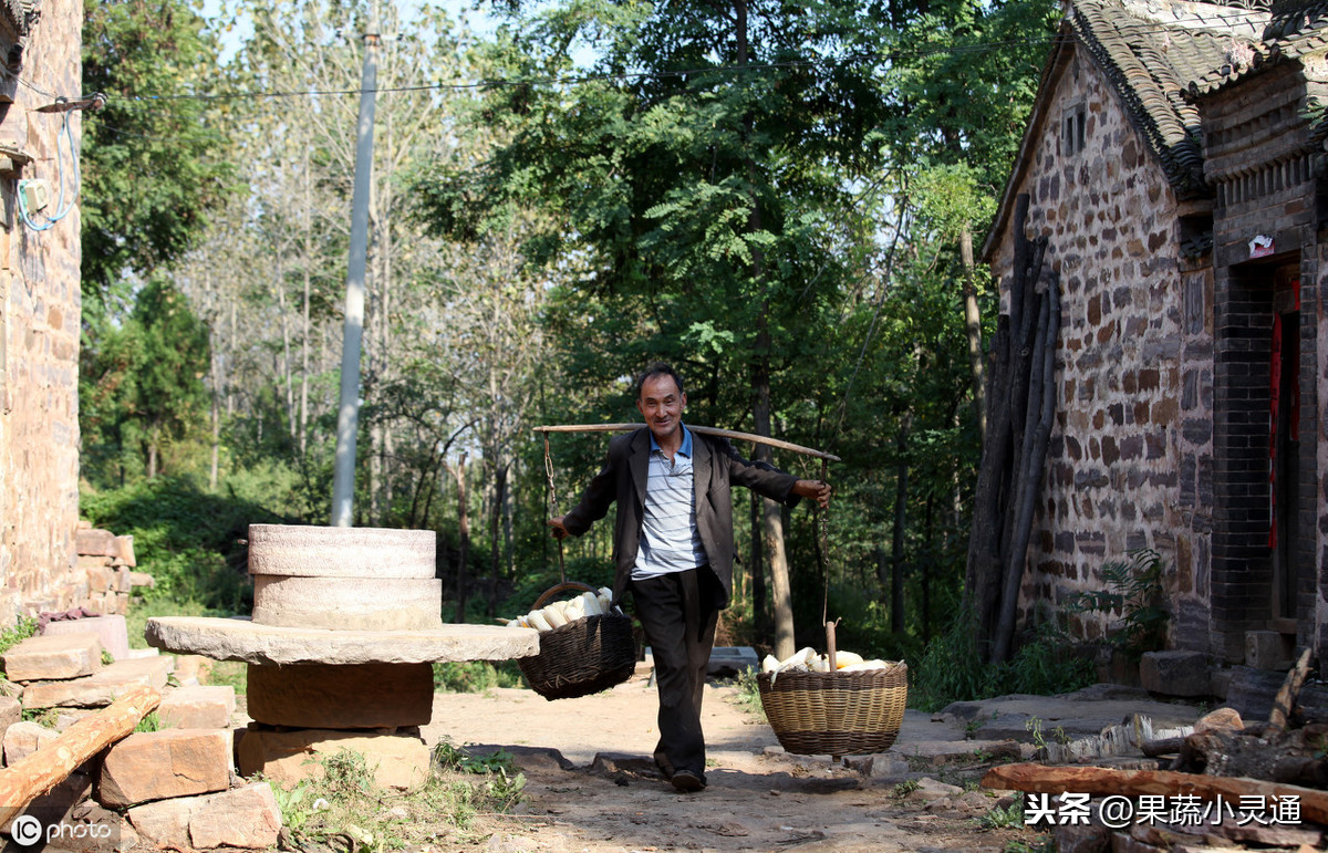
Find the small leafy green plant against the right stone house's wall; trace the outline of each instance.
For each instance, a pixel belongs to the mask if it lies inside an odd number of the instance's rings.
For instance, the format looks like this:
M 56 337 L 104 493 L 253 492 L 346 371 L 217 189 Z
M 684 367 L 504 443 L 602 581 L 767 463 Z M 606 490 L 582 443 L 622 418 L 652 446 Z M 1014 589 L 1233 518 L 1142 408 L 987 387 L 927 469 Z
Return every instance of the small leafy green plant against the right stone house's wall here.
M 1066 602 L 1066 613 L 1120 614 L 1108 640 L 1138 660 L 1143 652 L 1162 648 L 1170 619 L 1162 590 L 1162 555 L 1151 547 L 1127 553 L 1129 562 L 1102 565 L 1105 590 L 1076 593 Z

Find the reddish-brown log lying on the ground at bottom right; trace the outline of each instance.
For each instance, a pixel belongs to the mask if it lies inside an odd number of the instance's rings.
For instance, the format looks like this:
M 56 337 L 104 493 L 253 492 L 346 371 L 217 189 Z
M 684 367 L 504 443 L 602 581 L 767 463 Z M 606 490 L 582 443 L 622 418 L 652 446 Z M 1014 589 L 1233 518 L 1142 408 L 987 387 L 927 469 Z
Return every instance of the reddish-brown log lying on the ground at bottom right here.
M 1300 816 L 1328 824 L 1328 791 L 1299 785 L 1243 779 L 1239 776 L 1199 776 L 1171 771 L 1114 771 L 1105 767 L 1042 767 L 1041 764 L 1005 764 L 983 776 L 983 785 L 1029 793 L 1195 795 L 1202 800 L 1223 797 L 1235 806 L 1242 796 L 1276 796 L 1300 799 Z

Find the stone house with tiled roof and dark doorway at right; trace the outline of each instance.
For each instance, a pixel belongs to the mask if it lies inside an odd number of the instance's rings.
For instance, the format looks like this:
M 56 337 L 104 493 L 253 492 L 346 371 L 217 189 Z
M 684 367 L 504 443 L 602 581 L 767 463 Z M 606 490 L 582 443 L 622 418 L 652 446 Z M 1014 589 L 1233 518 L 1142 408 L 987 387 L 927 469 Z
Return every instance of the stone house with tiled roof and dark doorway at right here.
M 1328 3 L 1068 1 L 983 247 L 1007 312 L 1027 195 L 1061 292 L 1025 623 L 1151 547 L 1169 648 L 1328 656 L 1325 96 Z

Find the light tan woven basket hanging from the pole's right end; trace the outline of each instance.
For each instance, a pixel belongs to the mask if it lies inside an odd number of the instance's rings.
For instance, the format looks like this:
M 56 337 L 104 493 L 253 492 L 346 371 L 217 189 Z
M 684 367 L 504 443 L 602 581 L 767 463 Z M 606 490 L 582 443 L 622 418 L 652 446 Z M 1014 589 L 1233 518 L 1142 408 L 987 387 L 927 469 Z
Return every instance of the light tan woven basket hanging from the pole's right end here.
M 761 706 L 780 745 L 794 755 L 884 752 L 899 736 L 908 667 L 757 676 Z

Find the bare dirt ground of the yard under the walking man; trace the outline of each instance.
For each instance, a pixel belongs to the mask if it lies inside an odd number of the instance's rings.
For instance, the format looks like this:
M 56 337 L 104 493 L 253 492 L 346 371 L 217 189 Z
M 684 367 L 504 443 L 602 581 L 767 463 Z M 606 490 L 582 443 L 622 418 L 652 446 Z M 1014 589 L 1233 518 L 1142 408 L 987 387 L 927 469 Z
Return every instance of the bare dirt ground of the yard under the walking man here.
M 964 784 L 980 777 L 985 756 L 934 759 L 911 749 L 911 739 L 932 737 L 928 715 L 910 711 L 890 753 L 845 767 L 785 753 L 765 720 L 736 702 L 736 686 L 706 692 L 709 787 L 696 795 L 676 793 L 655 772 L 657 699 L 640 678 L 558 702 L 506 688 L 441 694 L 424 733 L 430 745 L 446 737 L 475 755 L 502 747 L 527 777 L 525 801 L 510 816 L 483 816 L 490 834 L 469 849 L 1038 849 L 1031 830 L 981 828 L 980 817 L 1001 800 Z M 959 743 L 967 748 L 961 732 Z

